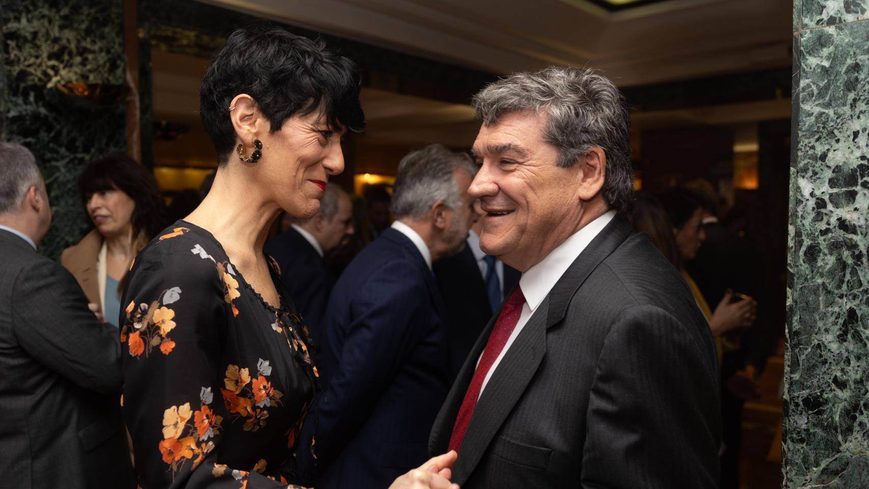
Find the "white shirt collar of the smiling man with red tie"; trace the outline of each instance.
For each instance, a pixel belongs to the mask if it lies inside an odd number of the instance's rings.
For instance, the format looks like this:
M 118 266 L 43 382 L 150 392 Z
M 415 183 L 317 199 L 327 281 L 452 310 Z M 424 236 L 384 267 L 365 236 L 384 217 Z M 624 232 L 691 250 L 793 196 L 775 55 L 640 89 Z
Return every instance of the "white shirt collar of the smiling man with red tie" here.
M 555 287 L 555 283 L 561 279 L 561 275 L 574 263 L 576 257 L 586 249 L 588 243 L 594 240 L 594 236 L 597 236 L 607 226 L 609 221 L 613 220 L 614 216 L 614 210 L 600 215 L 600 217 L 589 222 L 585 227 L 575 232 L 567 240 L 558 245 L 558 247 L 549 252 L 534 267 L 528 268 L 527 272 L 522 274 L 519 286 L 522 288 L 522 294 L 525 295 L 525 301 L 532 312 L 541 305 L 541 302 L 549 294 L 549 291 L 552 290 L 552 287 Z

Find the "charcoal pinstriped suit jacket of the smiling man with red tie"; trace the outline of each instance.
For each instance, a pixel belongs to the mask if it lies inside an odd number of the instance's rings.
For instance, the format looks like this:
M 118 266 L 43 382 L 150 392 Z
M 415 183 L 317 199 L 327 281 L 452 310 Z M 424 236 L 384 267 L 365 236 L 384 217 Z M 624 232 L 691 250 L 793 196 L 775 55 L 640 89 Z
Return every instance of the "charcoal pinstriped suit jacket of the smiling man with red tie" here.
M 490 321 L 434 422 L 444 453 Z M 474 409 L 462 489 L 718 486 L 718 373 L 680 273 L 616 216 L 534 311 Z

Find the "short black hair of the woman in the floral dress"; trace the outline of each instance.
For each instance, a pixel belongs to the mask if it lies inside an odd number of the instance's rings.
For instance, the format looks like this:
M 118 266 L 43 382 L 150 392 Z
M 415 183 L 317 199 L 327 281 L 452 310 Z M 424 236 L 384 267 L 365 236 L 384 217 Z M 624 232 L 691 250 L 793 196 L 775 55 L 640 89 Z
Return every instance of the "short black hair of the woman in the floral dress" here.
M 235 96 L 251 96 L 269 119 L 272 133 L 290 117 L 307 116 L 321 107 L 329 128 L 362 133 L 361 86 L 356 64 L 328 50 L 321 40 L 280 28 L 235 30 L 202 78 L 199 116 L 214 142 L 217 162 L 224 165 L 235 146 L 229 119 Z

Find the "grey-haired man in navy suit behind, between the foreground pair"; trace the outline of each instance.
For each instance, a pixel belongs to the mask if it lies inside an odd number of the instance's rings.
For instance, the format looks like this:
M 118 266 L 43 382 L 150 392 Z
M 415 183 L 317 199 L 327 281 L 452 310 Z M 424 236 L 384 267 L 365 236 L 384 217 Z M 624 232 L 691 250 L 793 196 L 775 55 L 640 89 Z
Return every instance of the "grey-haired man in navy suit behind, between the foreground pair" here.
M 297 452 L 302 476 L 319 489 L 381 489 L 428 458 L 451 381 L 432 263 L 465 246 L 475 173 L 468 155 L 441 145 L 405 156 L 395 222 L 335 284 L 317 359 L 322 395 Z

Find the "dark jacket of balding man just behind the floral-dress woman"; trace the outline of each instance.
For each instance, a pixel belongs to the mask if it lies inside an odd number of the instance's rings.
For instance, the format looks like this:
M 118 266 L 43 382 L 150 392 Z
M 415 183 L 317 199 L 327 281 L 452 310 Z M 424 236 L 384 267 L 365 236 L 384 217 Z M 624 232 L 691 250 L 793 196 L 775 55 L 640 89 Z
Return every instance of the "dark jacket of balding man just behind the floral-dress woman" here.
M 315 348 L 319 351 L 326 303 L 334 282 L 326 261 L 294 228 L 287 229 L 266 243 L 263 250 L 281 268 L 281 281 L 287 287 L 299 314 L 302 314 L 311 340 L 314 340 Z

